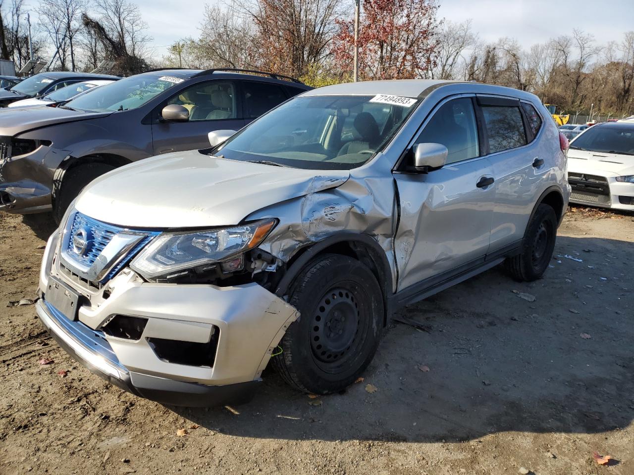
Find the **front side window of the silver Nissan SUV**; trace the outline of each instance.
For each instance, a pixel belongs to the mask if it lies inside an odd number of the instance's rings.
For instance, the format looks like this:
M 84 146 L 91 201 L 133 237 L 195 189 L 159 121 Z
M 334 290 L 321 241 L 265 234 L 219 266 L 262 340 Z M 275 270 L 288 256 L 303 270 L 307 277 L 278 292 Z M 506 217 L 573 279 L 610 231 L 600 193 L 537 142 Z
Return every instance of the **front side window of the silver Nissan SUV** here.
M 428 142 L 446 146 L 449 151 L 447 163 L 480 155 L 475 113 L 470 98 L 453 99 L 434 112 L 415 144 Z

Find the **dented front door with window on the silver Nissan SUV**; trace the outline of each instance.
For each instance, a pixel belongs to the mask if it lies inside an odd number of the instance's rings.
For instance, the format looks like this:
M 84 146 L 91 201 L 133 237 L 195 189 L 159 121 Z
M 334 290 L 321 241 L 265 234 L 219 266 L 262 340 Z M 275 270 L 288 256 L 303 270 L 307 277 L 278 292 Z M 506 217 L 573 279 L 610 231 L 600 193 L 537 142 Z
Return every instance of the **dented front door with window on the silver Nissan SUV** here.
M 400 203 L 394 243 L 398 290 L 484 262 L 495 200 L 493 170 L 481 153 L 473 99 L 441 103 L 415 139 L 440 143 L 444 167 L 428 174 L 395 173 Z

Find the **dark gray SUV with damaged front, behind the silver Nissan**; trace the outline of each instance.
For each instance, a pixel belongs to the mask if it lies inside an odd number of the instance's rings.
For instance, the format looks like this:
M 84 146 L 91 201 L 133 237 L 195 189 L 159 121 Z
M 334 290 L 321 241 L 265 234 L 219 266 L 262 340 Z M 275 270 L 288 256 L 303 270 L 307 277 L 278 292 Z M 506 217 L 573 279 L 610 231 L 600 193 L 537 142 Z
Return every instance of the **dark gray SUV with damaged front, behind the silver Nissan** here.
M 0 210 L 53 210 L 57 221 L 86 184 L 148 156 L 209 147 L 311 89 L 273 73 L 157 70 L 87 92 L 65 106 L 0 111 Z M 257 73 L 254 75 L 252 73 Z

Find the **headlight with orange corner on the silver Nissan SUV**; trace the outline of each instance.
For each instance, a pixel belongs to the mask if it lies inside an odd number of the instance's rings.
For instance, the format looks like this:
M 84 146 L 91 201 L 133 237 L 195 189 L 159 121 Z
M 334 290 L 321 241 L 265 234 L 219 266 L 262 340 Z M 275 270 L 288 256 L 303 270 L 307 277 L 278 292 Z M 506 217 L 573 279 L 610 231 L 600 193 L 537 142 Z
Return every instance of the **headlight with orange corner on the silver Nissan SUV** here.
M 275 224 L 276 220 L 265 219 L 225 229 L 165 233 L 154 238 L 130 267 L 146 279 L 152 279 L 228 260 L 255 248 Z

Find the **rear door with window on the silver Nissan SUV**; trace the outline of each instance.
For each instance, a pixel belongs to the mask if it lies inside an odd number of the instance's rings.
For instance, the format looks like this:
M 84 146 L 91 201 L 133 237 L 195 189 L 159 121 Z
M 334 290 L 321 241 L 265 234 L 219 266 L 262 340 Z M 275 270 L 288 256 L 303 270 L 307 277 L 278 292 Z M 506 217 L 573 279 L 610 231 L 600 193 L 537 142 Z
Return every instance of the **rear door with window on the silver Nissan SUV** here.
M 542 119 L 530 103 L 478 96 L 477 104 L 496 184 L 489 250 L 495 253 L 524 237 L 552 157 L 535 140 Z

